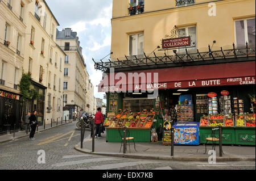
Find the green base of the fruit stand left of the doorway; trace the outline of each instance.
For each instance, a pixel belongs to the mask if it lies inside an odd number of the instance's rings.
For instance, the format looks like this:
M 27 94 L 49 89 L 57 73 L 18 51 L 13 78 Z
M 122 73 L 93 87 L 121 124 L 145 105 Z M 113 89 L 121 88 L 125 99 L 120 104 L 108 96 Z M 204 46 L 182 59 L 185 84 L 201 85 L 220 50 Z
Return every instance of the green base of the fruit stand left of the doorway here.
M 151 142 L 150 128 L 127 128 L 134 142 Z M 106 128 L 106 142 L 121 142 L 118 128 Z

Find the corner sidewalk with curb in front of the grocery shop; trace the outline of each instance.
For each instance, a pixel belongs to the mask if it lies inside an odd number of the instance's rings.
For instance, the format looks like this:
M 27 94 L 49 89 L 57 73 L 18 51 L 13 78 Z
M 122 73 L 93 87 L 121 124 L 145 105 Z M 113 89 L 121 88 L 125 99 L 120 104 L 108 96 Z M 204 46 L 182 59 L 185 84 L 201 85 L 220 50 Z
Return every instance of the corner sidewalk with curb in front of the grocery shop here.
M 170 161 L 202 161 L 208 162 L 208 151 L 212 149 L 212 145 L 207 145 L 207 154 L 205 146 L 174 146 L 174 157 L 171 157 L 171 146 L 163 146 L 162 141 L 151 143 L 135 142 L 136 150 L 134 150 L 133 142 L 127 143 L 126 154 L 123 154 L 123 146 L 119 153 L 121 142 L 106 142 L 106 132 L 101 134 L 101 138 L 95 139 L 95 152 L 92 153 L 92 138 L 84 138 L 83 149 L 80 148 L 80 142 L 75 149 L 82 153 L 105 155 L 110 157 L 124 157 L 135 159 L 160 159 Z M 255 161 L 255 146 L 222 146 L 224 151 L 223 157 L 219 157 L 219 147 L 216 145 L 216 161 Z

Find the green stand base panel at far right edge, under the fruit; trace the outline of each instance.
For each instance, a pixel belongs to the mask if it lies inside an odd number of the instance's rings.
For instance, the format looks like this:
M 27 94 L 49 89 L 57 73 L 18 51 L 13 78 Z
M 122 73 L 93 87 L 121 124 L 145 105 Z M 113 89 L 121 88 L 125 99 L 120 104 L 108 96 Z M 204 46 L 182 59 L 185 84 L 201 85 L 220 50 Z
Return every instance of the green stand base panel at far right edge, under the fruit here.
M 255 127 L 236 127 L 236 145 L 255 146 Z

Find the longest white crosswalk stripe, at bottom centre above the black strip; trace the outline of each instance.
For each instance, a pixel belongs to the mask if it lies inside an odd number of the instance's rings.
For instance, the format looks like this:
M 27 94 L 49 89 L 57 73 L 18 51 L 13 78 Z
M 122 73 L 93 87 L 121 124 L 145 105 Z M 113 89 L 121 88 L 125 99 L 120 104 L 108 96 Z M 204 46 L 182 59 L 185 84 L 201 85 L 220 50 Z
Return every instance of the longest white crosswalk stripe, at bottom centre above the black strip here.
M 141 161 L 141 162 L 112 163 L 107 165 L 92 166 L 89 169 L 80 168 L 77 170 L 109 170 L 109 169 L 117 169 L 117 168 L 127 167 L 127 166 L 145 165 L 150 163 L 157 163 L 157 162 Z

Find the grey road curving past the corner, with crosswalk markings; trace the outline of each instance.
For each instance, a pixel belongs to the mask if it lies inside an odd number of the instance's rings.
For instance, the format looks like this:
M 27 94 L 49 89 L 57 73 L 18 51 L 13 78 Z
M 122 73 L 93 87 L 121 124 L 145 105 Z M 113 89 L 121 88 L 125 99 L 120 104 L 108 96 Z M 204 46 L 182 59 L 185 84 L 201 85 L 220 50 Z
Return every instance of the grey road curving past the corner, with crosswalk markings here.
M 85 132 L 88 137 L 90 131 Z M 152 161 L 112 158 L 80 153 L 74 149 L 80 141 L 76 121 L 28 137 L 0 144 L 1 170 L 255 170 L 255 162 Z M 97 139 L 96 139 L 97 141 Z M 42 151 L 43 150 L 43 151 Z M 42 156 L 45 153 L 45 163 Z M 39 161 L 39 162 L 38 162 Z

